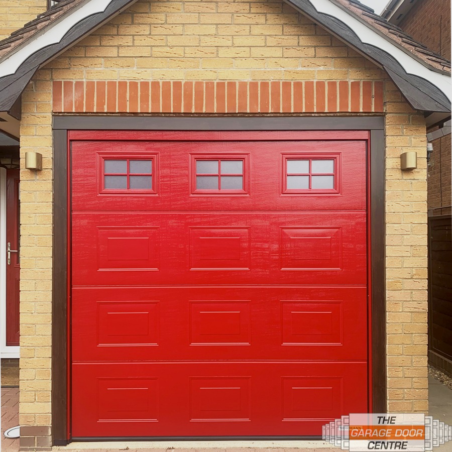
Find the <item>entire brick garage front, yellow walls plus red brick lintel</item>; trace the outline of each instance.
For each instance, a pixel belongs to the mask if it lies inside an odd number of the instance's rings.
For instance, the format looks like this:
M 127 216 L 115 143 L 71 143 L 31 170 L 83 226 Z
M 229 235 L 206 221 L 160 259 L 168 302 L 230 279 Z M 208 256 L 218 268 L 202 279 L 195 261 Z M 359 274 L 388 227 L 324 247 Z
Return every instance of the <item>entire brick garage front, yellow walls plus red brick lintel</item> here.
M 51 425 L 52 110 L 384 112 L 388 409 L 427 410 L 423 115 L 382 70 L 282 2 L 141 0 L 38 71 L 23 94 L 22 168 L 33 150 L 43 171 L 21 171 L 22 425 Z M 408 150 L 419 167 L 401 172 Z

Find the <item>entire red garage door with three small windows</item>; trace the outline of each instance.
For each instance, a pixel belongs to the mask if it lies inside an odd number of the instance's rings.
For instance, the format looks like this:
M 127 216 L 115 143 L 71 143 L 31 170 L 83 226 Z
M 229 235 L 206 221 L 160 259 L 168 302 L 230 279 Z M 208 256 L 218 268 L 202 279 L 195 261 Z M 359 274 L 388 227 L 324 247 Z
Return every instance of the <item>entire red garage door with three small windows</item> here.
M 73 437 L 368 411 L 367 133 L 77 137 Z

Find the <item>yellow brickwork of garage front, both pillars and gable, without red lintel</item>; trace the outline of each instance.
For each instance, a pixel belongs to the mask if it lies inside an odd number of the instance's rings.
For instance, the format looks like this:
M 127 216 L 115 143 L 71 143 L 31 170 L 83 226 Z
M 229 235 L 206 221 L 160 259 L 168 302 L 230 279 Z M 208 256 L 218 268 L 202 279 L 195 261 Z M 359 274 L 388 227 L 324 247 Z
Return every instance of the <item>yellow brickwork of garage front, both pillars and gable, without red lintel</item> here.
M 51 80 L 384 80 L 388 408 L 427 410 L 425 125 L 385 74 L 281 1 L 141 0 L 40 70 L 23 96 L 21 424 L 50 425 Z M 401 172 L 416 150 L 419 168 Z M 22 161 L 23 162 L 23 161 Z

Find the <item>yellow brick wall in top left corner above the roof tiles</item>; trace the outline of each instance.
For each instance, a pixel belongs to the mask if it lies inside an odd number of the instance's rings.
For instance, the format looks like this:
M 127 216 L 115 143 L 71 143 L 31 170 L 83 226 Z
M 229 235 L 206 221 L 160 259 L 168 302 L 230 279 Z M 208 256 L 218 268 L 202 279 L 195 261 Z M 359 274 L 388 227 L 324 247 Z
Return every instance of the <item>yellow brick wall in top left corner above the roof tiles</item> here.
M 0 40 L 46 11 L 47 0 L 0 0 Z

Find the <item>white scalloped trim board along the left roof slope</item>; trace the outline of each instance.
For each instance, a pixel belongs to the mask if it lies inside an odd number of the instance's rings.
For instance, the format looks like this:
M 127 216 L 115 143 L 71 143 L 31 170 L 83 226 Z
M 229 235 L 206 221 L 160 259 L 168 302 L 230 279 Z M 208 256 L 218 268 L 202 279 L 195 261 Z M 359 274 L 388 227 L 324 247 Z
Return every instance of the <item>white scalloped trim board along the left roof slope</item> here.
M 70 10 L 66 15 L 57 19 L 41 34 L 33 36 L 17 51 L 0 63 L 0 77 L 14 74 L 20 65 L 31 55 L 52 44 L 59 43 L 64 35 L 76 24 L 93 14 L 102 13 L 113 0 L 88 0 L 79 8 Z

